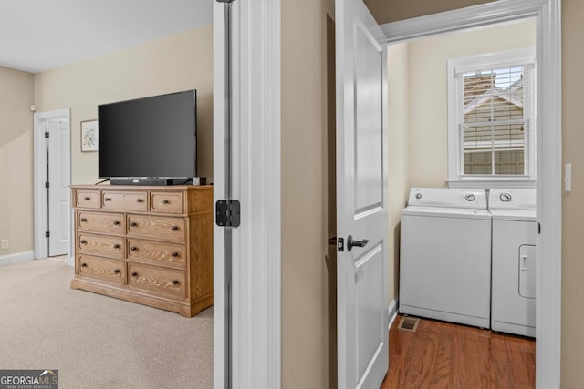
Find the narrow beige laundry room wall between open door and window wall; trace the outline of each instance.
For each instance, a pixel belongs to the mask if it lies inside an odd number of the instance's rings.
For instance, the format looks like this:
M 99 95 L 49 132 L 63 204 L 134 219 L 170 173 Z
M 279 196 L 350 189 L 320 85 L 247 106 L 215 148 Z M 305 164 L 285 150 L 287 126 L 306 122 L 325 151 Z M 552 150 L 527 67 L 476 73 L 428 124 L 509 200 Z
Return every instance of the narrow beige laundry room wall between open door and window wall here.
M 408 44 L 388 47 L 388 228 L 389 292 L 388 305 L 399 291 L 400 220 L 410 190 L 409 167 L 409 115 L 410 74 Z

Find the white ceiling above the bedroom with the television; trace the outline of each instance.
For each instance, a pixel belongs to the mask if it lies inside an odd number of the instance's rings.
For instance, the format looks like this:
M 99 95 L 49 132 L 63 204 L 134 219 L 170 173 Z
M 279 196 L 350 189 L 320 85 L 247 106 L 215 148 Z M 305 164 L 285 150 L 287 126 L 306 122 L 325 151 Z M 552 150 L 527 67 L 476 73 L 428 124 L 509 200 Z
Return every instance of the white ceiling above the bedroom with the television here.
M 0 0 L 0 66 L 37 73 L 213 21 L 214 0 Z

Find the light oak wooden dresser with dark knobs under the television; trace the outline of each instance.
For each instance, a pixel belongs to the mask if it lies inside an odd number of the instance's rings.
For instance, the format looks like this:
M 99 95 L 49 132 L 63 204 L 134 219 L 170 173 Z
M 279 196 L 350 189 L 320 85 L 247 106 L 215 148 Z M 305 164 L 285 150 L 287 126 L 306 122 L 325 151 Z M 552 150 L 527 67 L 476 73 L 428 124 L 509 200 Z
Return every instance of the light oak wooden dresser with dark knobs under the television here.
M 71 187 L 71 288 L 192 317 L 213 305 L 213 187 Z

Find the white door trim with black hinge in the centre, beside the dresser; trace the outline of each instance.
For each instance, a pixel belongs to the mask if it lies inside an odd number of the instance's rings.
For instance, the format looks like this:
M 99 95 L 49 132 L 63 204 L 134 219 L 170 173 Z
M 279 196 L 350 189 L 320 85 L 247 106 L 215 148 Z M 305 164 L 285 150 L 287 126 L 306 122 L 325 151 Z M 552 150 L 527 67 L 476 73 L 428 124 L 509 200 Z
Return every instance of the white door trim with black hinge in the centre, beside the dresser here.
M 232 3 L 233 387 L 280 387 L 280 0 Z M 224 4 L 214 3 L 214 200 L 225 199 Z M 214 388 L 227 387 L 225 229 L 214 228 Z

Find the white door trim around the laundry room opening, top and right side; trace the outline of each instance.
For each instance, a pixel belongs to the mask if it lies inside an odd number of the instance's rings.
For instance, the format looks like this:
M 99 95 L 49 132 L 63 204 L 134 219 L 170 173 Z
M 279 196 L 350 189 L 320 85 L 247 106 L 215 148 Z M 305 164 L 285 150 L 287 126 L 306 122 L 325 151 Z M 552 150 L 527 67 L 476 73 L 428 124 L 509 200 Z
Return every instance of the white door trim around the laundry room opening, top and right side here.
M 558 389 L 561 347 L 561 0 L 499 0 L 381 26 L 388 43 L 537 19 L 537 388 Z M 543 109 L 546 107 L 546 109 Z

